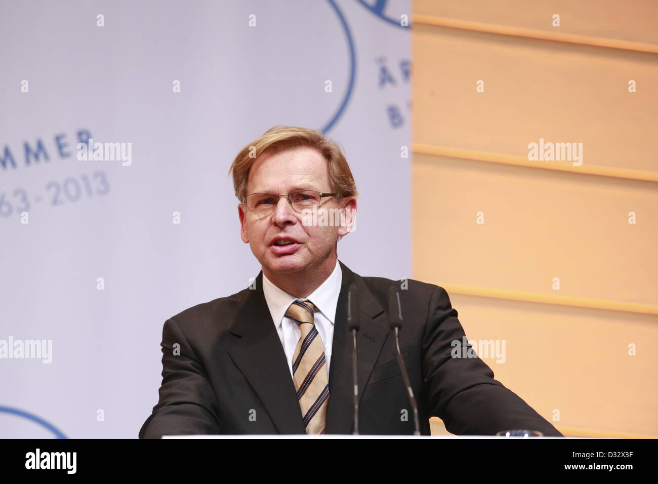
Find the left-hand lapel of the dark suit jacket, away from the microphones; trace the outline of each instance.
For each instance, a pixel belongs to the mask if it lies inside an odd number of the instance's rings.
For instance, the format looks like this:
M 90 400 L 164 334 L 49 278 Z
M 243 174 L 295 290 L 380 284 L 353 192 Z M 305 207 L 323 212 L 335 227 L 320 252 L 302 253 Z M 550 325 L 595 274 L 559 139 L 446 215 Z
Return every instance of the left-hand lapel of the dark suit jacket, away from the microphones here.
M 230 329 L 226 350 L 263 400 L 278 433 L 306 433 L 286 353 L 263 294 L 263 272 Z

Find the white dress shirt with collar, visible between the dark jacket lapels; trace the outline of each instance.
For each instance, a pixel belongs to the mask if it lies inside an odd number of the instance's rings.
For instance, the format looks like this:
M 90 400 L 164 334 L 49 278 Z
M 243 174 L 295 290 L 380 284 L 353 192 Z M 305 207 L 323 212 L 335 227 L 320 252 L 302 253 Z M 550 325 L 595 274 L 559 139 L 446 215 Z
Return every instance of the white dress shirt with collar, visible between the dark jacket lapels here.
M 290 308 L 293 301 L 311 301 L 317 308 L 315 317 L 315 327 L 320 333 L 322 344 L 324 345 L 324 357 L 326 358 L 327 377 L 329 376 L 329 367 L 331 364 L 331 347 L 334 341 L 334 320 L 336 318 L 336 306 L 338 305 L 338 294 L 340 294 L 340 286 L 343 281 L 343 272 L 338 265 L 336 259 L 336 267 L 334 272 L 320 284 L 313 294 L 307 298 L 295 298 L 288 292 L 278 288 L 265 277 L 263 273 L 263 294 L 265 294 L 265 301 L 267 307 L 270 309 L 272 321 L 276 326 L 276 331 L 281 338 L 281 344 L 286 353 L 288 360 L 288 367 L 290 368 L 290 376 L 292 376 L 292 358 L 295 355 L 295 348 L 297 342 L 301 338 L 301 330 L 299 325 L 295 323 L 290 317 L 286 317 L 286 311 Z

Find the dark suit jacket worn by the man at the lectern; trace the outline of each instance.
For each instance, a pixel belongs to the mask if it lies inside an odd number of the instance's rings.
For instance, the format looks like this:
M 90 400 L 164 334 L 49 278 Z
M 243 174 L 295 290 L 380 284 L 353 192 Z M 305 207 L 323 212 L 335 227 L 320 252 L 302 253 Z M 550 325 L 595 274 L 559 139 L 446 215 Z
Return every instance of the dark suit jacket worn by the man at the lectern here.
M 357 337 L 359 433 L 413 434 L 413 414 L 389 329 L 388 289 L 400 281 L 361 277 L 342 262 L 329 373 L 326 433 L 352 432 L 352 338 L 347 330 L 347 291 L 356 284 L 361 319 Z M 160 400 L 140 438 L 187 434 L 303 434 L 281 340 L 263 295 L 255 289 L 186 309 L 164 323 Z M 403 327 L 400 348 L 418 398 L 420 431 L 429 417 L 443 419 L 457 435 L 494 435 L 533 429 L 561 436 L 524 400 L 493 379 L 479 358 L 451 358 L 451 341 L 464 330 L 445 290 L 409 280 L 399 290 Z M 174 355 L 174 344 L 180 354 Z M 404 418 L 405 411 L 407 418 Z

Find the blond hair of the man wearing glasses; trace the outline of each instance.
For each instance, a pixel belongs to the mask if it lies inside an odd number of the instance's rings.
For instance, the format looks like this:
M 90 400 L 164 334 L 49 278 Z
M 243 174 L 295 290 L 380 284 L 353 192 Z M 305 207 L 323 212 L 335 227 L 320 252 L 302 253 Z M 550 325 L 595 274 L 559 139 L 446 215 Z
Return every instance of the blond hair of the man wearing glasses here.
M 233 175 L 233 187 L 238 200 L 242 202 L 247 196 L 249 171 L 257 157 L 303 146 L 315 149 L 324 157 L 329 169 L 332 191 L 338 194 L 338 197 L 359 195 L 345 155 L 336 142 L 326 139 L 318 130 L 296 126 L 274 126 L 242 148 L 228 170 L 228 173 Z

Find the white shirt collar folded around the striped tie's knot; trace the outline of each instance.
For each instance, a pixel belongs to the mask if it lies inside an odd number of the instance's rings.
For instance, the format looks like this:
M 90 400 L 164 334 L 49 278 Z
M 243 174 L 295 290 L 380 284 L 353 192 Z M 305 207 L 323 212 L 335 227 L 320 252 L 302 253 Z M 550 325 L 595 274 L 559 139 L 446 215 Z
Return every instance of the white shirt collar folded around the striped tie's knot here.
M 293 301 L 300 299 L 311 301 L 314 306 L 318 308 L 318 311 L 320 311 L 330 323 L 334 324 L 334 319 L 336 318 L 336 306 L 338 305 L 338 295 L 340 294 L 340 286 L 342 282 L 343 273 L 340 270 L 338 259 L 336 259 L 336 267 L 334 267 L 334 271 L 307 298 L 295 298 L 295 296 L 291 296 L 288 292 L 275 286 L 272 281 L 265 277 L 265 273 L 263 273 L 263 294 L 265 295 L 267 306 L 270 309 L 274 325 L 276 325 L 277 328 L 280 327 L 290 305 Z

